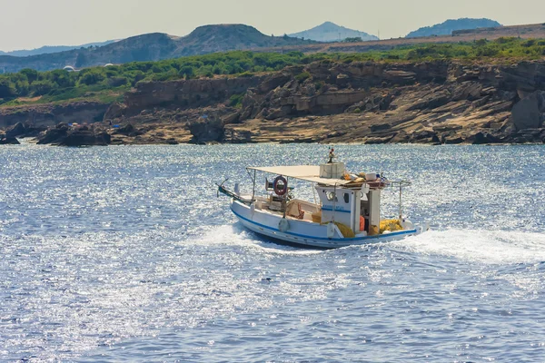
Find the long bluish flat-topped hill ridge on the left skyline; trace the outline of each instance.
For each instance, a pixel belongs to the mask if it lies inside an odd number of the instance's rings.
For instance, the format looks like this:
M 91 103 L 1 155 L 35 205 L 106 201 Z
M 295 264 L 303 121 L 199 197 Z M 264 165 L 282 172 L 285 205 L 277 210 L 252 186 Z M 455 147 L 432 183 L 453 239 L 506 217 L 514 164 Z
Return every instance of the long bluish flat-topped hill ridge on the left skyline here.
M 153 33 L 133 36 L 101 47 L 74 49 L 28 57 L 0 55 L 0 73 L 24 68 L 49 71 L 72 65 L 76 68 L 104 64 L 159 61 L 186 55 L 210 54 L 261 47 L 312 44 L 312 41 L 269 36 L 248 25 L 205 25 L 183 37 Z

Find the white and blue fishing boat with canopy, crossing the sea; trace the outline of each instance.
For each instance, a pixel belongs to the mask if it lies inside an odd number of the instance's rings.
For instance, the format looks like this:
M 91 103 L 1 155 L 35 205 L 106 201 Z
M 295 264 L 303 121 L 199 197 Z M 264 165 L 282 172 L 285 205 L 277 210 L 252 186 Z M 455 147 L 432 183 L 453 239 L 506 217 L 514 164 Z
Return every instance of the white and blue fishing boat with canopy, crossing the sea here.
M 403 187 L 410 182 L 390 182 L 376 173 L 354 175 L 342 162 L 322 165 L 248 167 L 253 181 L 251 194 L 219 192 L 231 197 L 231 210 L 243 226 L 273 240 L 305 247 L 334 249 L 390 240 L 400 240 L 428 230 L 402 217 Z M 256 193 L 257 173 L 275 175 L 265 179 L 265 193 Z M 290 180 L 312 183 L 314 201 L 293 198 Z M 397 219 L 381 220 L 381 191 L 399 187 L 400 212 Z M 319 200 L 319 201 L 318 201 Z

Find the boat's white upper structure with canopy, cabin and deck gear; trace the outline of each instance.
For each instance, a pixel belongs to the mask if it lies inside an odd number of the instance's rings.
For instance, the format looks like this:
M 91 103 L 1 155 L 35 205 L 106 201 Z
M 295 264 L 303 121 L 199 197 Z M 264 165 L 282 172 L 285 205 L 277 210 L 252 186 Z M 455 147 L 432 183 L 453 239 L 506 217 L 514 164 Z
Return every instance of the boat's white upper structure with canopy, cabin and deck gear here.
M 288 220 L 347 227 L 353 235 L 375 235 L 381 225 L 381 182 L 377 174 L 347 175 L 342 162 L 320 166 L 280 166 L 248 168 L 249 171 L 276 174 L 274 182 L 265 182 L 266 197 L 244 196 L 257 211 L 268 211 Z M 251 175 L 252 176 L 252 175 Z M 255 174 L 253 181 L 255 184 Z M 292 196 L 290 179 L 312 182 L 314 202 L 302 201 Z M 238 191 L 238 187 L 235 187 Z M 240 194 L 239 194 L 240 196 Z

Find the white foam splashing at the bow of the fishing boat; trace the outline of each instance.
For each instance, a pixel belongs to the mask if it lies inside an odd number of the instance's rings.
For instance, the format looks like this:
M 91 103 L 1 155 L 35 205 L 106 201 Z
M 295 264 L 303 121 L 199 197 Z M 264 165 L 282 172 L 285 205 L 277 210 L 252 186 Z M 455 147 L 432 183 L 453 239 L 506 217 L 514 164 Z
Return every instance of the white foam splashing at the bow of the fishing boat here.
M 316 254 L 322 253 L 322 250 L 304 250 L 291 246 L 284 246 L 274 242 L 260 239 L 251 231 L 247 231 L 240 223 L 233 225 L 214 226 L 209 231 L 205 231 L 203 237 L 192 240 L 192 244 L 205 245 L 236 245 L 263 250 L 268 253 L 278 254 Z

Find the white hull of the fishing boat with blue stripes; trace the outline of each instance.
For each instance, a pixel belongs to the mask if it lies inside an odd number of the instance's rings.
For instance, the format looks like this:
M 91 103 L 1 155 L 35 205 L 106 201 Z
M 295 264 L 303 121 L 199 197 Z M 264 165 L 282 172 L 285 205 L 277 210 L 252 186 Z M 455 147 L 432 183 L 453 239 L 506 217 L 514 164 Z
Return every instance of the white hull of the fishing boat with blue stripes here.
M 417 227 L 410 231 L 396 231 L 377 236 L 343 238 L 341 232 L 335 228 L 333 237 L 328 238 L 327 225 L 289 219 L 287 230 L 284 228 L 284 231 L 281 231 L 280 221 L 282 217 L 279 215 L 274 215 L 266 211 L 257 211 L 240 201 L 234 200 L 231 201 L 231 210 L 243 226 L 250 231 L 273 240 L 282 240 L 291 244 L 322 249 L 336 249 L 352 245 L 401 240 L 407 236 L 420 234 L 423 231 L 423 228 Z

